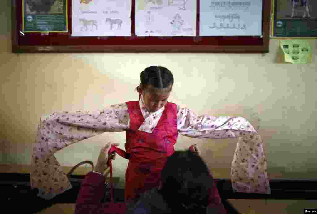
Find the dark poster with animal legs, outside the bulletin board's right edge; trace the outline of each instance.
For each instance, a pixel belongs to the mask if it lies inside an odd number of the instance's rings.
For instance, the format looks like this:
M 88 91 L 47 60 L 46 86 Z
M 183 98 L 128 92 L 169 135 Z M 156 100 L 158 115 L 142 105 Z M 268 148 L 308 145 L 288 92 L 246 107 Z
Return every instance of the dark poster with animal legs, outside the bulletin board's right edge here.
M 317 37 L 316 0 L 274 0 L 273 37 Z

